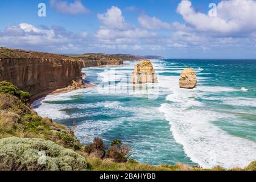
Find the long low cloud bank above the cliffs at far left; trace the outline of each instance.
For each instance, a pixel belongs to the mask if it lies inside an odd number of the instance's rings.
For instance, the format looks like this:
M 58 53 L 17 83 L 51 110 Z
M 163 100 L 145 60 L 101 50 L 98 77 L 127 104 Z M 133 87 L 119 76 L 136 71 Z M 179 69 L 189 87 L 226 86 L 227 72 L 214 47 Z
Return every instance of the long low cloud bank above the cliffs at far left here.
M 50 52 L 77 51 L 87 36 L 87 32 L 74 34 L 58 26 L 35 27 L 20 23 L 0 31 L 0 46 Z

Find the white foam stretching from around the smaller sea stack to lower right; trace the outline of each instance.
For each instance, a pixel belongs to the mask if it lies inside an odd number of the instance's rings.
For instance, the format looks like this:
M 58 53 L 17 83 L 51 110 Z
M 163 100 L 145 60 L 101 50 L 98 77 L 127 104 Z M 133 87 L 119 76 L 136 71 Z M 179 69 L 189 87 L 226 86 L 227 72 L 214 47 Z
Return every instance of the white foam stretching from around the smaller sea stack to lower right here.
M 185 153 L 193 162 L 202 167 L 217 165 L 232 168 L 245 167 L 256 159 L 256 143 L 234 137 L 213 124 L 229 114 L 205 109 L 203 103 L 196 100 L 203 93 L 234 92 L 238 89 L 222 86 L 201 86 L 196 89 L 180 89 L 177 77 L 168 77 L 172 94 L 166 98 L 171 104 L 162 104 L 159 111 L 170 122 L 175 140 L 182 144 Z M 160 80 L 167 85 L 166 79 Z

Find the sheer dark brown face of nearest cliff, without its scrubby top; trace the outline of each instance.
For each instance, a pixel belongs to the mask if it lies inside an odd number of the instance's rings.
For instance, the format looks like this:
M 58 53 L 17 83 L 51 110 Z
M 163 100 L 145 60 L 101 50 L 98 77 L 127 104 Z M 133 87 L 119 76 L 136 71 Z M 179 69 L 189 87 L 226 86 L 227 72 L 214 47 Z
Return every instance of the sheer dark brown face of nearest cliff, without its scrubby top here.
M 12 82 L 32 96 L 82 81 L 82 64 L 64 59 L 0 59 L 1 80 Z

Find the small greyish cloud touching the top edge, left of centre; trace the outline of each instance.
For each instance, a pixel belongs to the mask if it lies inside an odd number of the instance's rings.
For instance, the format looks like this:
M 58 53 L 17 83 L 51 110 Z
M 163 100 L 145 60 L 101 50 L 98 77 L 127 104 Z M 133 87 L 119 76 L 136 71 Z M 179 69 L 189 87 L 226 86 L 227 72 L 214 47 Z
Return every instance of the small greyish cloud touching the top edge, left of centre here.
M 82 5 L 81 0 L 75 0 L 73 3 L 68 3 L 63 0 L 50 0 L 50 5 L 53 10 L 64 14 L 77 15 L 90 13 L 90 11 Z

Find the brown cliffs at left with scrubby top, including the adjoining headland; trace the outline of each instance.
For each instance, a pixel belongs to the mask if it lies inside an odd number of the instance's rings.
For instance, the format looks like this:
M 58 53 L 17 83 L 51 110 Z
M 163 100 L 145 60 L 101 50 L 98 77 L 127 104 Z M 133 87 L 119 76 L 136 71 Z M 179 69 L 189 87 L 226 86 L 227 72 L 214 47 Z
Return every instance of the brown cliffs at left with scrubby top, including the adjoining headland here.
M 0 81 L 9 81 L 30 92 L 32 100 L 53 90 L 82 83 L 81 69 L 122 64 L 121 59 L 104 56 L 69 57 L 51 53 L 0 47 Z

